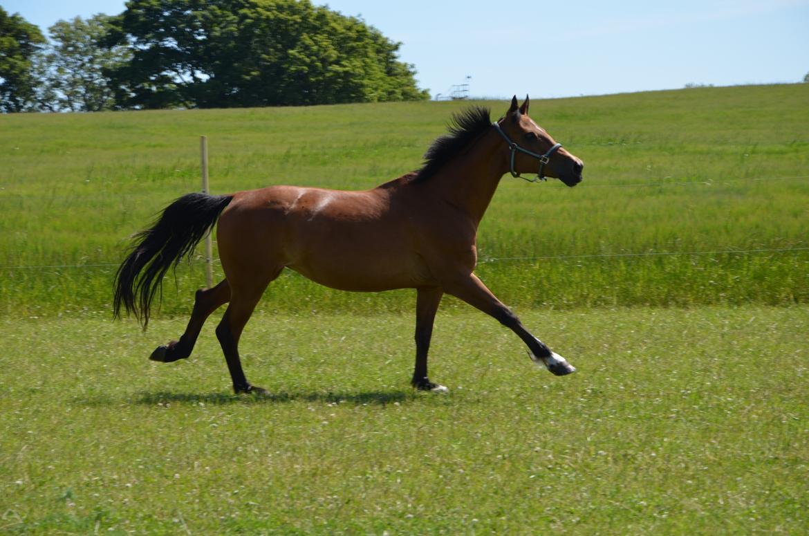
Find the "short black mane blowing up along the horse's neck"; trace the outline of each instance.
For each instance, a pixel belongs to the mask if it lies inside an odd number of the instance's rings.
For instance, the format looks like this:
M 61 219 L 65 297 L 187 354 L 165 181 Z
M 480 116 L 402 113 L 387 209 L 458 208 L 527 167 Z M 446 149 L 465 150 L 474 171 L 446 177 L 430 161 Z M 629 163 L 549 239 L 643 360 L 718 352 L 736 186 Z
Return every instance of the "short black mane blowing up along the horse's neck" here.
M 449 160 L 463 151 L 478 136 L 492 125 L 489 108 L 472 106 L 460 113 L 452 114 L 449 134 L 436 139 L 424 154 L 424 166 L 418 170 L 414 181 L 426 181 Z

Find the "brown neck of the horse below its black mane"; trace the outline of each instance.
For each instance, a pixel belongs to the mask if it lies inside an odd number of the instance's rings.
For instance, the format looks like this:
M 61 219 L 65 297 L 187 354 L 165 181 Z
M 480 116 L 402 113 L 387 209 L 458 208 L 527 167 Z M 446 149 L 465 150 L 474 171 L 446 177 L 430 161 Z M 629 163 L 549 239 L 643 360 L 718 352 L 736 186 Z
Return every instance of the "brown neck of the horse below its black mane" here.
M 502 145 L 494 131 L 484 134 L 430 178 L 435 193 L 464 211 L 476 228 L 507 171 Z

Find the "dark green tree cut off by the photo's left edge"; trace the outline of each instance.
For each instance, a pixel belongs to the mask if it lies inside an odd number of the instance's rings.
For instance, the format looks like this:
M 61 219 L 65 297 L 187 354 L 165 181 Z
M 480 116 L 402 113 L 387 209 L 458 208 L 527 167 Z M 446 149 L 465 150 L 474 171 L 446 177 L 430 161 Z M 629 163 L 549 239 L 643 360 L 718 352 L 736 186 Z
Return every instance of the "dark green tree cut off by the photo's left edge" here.
M 44 42 L 39 28 L 0 7 L 0 112 L 36 106 L 33 58 Z

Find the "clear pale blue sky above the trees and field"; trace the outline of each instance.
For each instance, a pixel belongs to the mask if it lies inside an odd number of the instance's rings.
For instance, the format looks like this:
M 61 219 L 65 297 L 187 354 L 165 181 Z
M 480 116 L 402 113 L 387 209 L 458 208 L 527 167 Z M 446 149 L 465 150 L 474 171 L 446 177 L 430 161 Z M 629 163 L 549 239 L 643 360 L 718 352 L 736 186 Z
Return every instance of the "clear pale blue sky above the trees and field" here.
M 323 5 L 327 2 L 315 0 Z M 47 35 L 60 19 L 116 15 L 120 0 L 0 0 Z M 329 0 L 361 16 L 447 96 L 532 98 L 794 83 L 809 74 L 809 0 Z

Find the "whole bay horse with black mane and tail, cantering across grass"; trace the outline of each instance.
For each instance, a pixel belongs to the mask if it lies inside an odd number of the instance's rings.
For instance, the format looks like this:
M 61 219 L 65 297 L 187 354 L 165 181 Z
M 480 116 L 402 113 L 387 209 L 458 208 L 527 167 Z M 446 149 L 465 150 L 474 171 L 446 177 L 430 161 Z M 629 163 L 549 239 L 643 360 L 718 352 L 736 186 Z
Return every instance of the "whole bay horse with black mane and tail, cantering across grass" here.
M 574 186 L 582 161 L 528 117 L 529 100 L 516 96 L 500 120 L 489 109 L 455 114 L 449 134 L 435 140 L 425 164 L 365 191 L 269 186 L 230 195 L 187 194 L 155 224 L 133 237 L 115 278 L 114 317 L 121 306 L 149 322 L 163 275 L 188 257 L 218 222 L 225 279 L 198 290 L 184 334 L 155 349 L 168 363 L 191 355 L 205 319 L 227 302 L 216 328 L 236 393 L 266 393 L 250 384 L 239 359 L 239 338 L 265 288 L 290 268 L 345 291 L 416 289 L 416 366 L 413 387 L 447 391 L 427 376 L 427 352 L 444 293 L 456 296 L 514 331 L 531 359 L 557 376 L 574 372 L 534 337 L 474 274 L 476 237 L 503 175 L 535 172 Z M 523 177 L 524 178 L 524 177 Z M 536 180 L 536 179 L 535 179 Z

